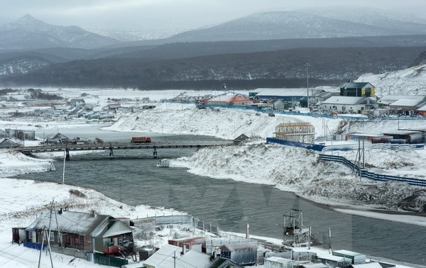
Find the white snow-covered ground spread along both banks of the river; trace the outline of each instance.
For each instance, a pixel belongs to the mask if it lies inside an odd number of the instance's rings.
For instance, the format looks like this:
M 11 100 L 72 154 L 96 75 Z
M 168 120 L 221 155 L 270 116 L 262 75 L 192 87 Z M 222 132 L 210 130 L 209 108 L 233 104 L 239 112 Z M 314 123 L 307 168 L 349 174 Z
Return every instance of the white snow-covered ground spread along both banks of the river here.
M 49 89 L 55 91 L 55 89 Z M 58 89 L 56 89 L 58 91 Z M 55 92 L 56 92 L 55 91 Z M 87 103 L 97 108 L 108 103 L 108 98 L 126 96 L 136 104 L 136 98 L 149 97 L 150 101 L 170 99 L 180 91 L 134 91 L 123 94 L 118 89 L 61 89 L 67 98 L 74 98 L 86 93 Z M 214 92 L 212 92 L 214 94 Z M 193 91 L 190 94 L 200 94 Z M 203 92 L 204 94 L 204 92 Z M 257 137 L 241 146 L 226 146 L 203 149 L 191 157 L 172 160 L 171 164 L 185 167 L 189 172 L 217 179 L 235 179 L 243 182 L 271 184 L 284 191 L 295 191 L 300 196 L 314 201 L 329 203 L 339 211 L 354 213 L 374 218 L 399 220 L 405 223 L 426 225 L 426 217 L 416 215 L 388 215 L 375 213 L 371 208 L 382 210 L 402 209 L 424 211 L 426 191 L 420 187 L 408 186 L 395 182 L 372 182 L 355 178 L 349 168 L 333 162 L 318 160 L 317 152 L 264 143 L 264 138 L 271 137 L 275 125 L 285 122 L 309 122 L 315 126 L 317 136 L 324 132 L 334 133 L 343 130 L 358 130 L 364 133 L 378 134 L 386 130 L 395 130 L 397 121 L 356 121 L 349 123 L 341 118 L 313 118 L 309 116 L 288 116 L 277 114 L 268 117 L 267 113 L 256 116 L 254 111 L 239 109 L 201 110 L 190 104 L 155 103 L 150 110 L 137 110 L 135 113 L 118 113 L 116 122 L 108 130 L 135 131 L 141 133 L 180 133 L 192 135 L 212 135 L 219 138 L 233 139 L 246 134 Z M 6 110 L 6 109 L 5 109 Z M 13 110 L 13 107 L 9 107 Z M 4 111 L 4 110 L 3 110 Z M 2 113 L 3 111 L 0 111 Z M 13 110 L 14 111 L 14 110 Z M 405 127 L 424 126 L 425 121 L 403 121 Z M 401 123 L 401 122 L 400 122 Z M 88 123 L 81 118 L 63 121 L 48 118 L 42 123 L 38 118 L 17 118 L 0 121 L 0 128 L 73 128 Z M 337 152 L 334 152 L 337 153 Z M 354 152 L 339 152 L 349 160 Z M 366 162 L 374 172 L 386 174 L 424 177 L 426 169 L 425 150 L 419 151 L 367 151 Z M 59 204 L 67 203 L 75 210 L 107 213 L 119 217 L 137 218 L 163 213 L 163 208 L 147 206 L 126 206 L 90 189 L 75 186 L 51 184 L 45 182 L 6 179 L 15 174 L 31 172 L 48 172 L 54 168 L 53 160 L 33 159 L 6 150 L 0 150 L 0 180 L 2 189 L 0 204 L 0 266 L 34 267 L 38 261 L 37 252 L 10 244 L 11 227 L 25 226 L 31 223 L 35 215 L 47 209 L 49 202 L 55 198 Z M 344 191 L 342 191 L 344 190 Z M 349 206 L 341 206 L 347 204 Z M 123 206 L 123 208 L 120 208 Z M 172 213 L 173 211 L 165 211 Z M 13 257 L 12 257 L 13 256 Z M 24 257 L 25 256 L 25 257 Z M 94 267 L 94 264 L 82 260 L 71 261 L 70 257 L 55 255 L 55 267 Z M 48 265 L 47 257 L 44 258 Z M 62 265 L 62 266 L 61 266 Z M 99 266 L 97 266 L 99 267 Z

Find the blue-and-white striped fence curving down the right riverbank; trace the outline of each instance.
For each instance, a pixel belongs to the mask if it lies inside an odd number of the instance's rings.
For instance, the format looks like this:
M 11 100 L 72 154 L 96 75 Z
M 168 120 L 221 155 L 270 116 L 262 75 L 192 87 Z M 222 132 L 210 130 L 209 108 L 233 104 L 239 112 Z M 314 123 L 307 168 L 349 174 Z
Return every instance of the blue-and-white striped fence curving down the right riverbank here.
M 383 174 L 376 174 L 373 172 L 368 172 L 366 169 L 361 169 L 357 164 L 347 160 L 345 157 L 337 156 L 337 155 L 324 155 L 320 154 L 320 160 L 325 161 L 333 161 L 345 164 L 347 167 L 356 170 L 357 174 L 360 174 L 361 177 L 365 177 L 368 179 L 373 179 L 375 181 L 387 182 L 387 181 L 396 181 L 396 182 L 405 182 L 415 186 L 423 186 L 426 187 L 426 179 L 416 179 L 416 178 L 408 178 L 408 177 L 398 177 L 398 176 L 390 176 Z

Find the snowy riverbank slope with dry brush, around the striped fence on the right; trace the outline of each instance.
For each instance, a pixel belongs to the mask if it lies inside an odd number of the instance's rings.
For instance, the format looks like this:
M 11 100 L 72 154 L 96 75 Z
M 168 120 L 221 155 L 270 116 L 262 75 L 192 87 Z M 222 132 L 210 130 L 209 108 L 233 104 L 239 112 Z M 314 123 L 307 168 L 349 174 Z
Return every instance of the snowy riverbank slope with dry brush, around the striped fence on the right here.
M 426 154 L 393 151 L 371 152 L 366 163 L 386 167 L 376 172 L 394 172 L 392 163 L 418 160 L 410 166 L 424 172 Z M 351 153 L 346 157 L 351 159 Z M 385 209 L 421 211 L 426 208 L 426 191 L 421 187 L 396 182 L 373 182 L 355 177 L 351 169 L 334 162 L 322 162 L 319 152 L 264 143 L 235 147 L 215 147 L 197 151 L 191 157 L 174 160 L 173 165 L 215 179 L 234 179 L 256 184 L 273 184 L 284 191 L 295 191 L 320 203 L 350 203 Z M 354 156 L 352 155 L 352 159 Z M 379 160 L 377 158 L 380 158 Z M 410 160 L 408 160 L 408 158 Z M 378 161 L 378 162 L 377 162 Z M 410 199 L 408 199 L 411 196 Z

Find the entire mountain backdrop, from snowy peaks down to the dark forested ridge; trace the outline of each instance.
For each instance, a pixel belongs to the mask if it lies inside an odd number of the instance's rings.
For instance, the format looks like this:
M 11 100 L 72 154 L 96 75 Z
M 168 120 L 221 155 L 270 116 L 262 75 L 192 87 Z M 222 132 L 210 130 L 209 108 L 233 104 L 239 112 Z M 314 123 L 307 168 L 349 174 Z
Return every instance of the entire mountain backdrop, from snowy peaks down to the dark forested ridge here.
M 313 85 L 340 84 L 426 58 L 425 19 L 356 7 L 256 13 L 168 38 L 125 42 L 142 38 L 136 32 L 90 33 L 26 15 L 0 27 L 0 84 L 197 89 L 226 81 L 234 88 L 290 87 L 305 84 L 306 62 Z

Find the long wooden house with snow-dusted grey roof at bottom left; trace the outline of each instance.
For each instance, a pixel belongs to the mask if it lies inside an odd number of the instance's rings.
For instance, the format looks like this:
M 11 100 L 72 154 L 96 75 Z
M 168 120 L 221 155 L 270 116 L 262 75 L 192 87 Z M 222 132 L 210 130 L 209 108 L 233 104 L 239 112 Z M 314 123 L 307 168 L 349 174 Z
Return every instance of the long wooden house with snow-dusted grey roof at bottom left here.
M 87 252 L 111 255 L 119 252 L 119 247 L 129 249 L 130 242 L 133 241 L 132 229 L 121 220 L 94 212 L 62 210 L 56 216 L 53 215 L 51 220 L 50 211 L 35 219 L 25 228 L 24 240 L 40 244 L 43 241 L 43 230 L 47 226 L 50 226 L 51 245 L 61 245 L 62 240 L 63 247 Z

